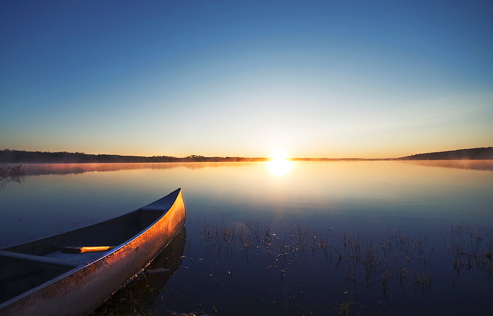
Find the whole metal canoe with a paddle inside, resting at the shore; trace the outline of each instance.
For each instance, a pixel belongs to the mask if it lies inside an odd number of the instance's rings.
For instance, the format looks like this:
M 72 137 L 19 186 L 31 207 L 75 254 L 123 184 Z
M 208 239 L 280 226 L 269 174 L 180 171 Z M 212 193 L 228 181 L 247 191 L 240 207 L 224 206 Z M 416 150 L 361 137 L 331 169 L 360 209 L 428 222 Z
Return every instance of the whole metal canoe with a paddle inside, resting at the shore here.
M 177 189 L 105 222 L 0 249 L 0 315 L 88 315 L 135 278 L 184 224 Z

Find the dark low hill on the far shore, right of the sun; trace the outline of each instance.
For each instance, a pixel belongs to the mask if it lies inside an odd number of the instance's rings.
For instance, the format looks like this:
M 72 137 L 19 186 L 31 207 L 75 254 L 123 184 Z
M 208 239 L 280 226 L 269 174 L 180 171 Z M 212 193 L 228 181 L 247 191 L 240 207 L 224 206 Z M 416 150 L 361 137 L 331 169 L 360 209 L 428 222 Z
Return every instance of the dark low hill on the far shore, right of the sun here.
M 458 149 L 450 151 L 428 152 L 397 158 L 398 160 L 462 160 L 493 159 L 493 147 Z

